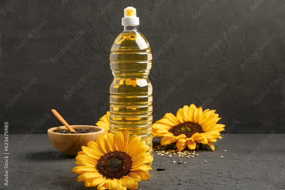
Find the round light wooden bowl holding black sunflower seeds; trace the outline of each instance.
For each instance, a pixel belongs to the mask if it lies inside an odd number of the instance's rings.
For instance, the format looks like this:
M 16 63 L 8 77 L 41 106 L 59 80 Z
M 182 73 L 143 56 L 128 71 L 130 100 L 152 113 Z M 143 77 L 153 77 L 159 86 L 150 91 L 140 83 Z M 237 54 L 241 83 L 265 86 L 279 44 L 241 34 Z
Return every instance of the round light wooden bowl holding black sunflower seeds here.
M 81 133 L 81 134 L 64 134 L 53 132 L 55 129 L 67 129 L 65 126 L 53 127 L 48 129 L 48 138 L 50 142 L 62 154 L 68 156 L 77 156 L 79 151 L 82 151 L 82 146 L 87 146 L 87 142 L 96 141 L 99 135 L 104 135 L 105 129 L 98 126 L 91 125 L 70 125 L 72 128 L 93 128 L 98 130 L 93 133 Z

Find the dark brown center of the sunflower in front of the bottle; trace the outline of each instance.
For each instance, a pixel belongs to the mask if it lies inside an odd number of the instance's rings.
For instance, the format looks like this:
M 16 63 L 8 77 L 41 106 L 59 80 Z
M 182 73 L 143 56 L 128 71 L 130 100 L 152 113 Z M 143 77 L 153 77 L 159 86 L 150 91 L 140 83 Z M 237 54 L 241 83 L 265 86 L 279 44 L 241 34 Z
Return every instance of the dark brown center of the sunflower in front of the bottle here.
M 131 172 L 132 164 L 132 158 L 126 152 L 112 151 L 99 158 L 96 169 L 106 178 L 121 179 Z

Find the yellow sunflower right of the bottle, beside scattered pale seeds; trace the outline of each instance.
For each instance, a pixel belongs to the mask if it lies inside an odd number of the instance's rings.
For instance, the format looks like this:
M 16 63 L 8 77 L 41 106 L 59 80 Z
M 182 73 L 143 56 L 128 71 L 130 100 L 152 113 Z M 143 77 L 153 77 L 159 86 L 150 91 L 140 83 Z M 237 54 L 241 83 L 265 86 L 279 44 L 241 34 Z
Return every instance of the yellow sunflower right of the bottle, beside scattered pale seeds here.
M 179 151 L 186 146 L 190 150 L 196 148 L 197 143 L 207 144 L 214 151 L 215 146 L 212 142 L 217 142 L 221 131 L 225 130 L 225 125 L 217 124 L 219 115 L 216 110 L 202 110 L 196 108 L 194 104 L 190 107 L 185 105 L 176 113 L 166 113 L 164 117 L 153 124 L 153 137 L 162 137 L 160 144 L 166 145 L 176 142 Z

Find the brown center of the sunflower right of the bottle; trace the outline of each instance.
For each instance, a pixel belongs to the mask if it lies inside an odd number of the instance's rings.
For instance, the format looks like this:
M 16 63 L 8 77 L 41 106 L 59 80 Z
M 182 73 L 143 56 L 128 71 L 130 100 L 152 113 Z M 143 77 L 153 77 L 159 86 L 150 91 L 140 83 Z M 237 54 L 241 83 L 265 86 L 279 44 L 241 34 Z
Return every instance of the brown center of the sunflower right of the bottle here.
M 168 131 L 171 132 L 174 136 L 185 134 L 187 138 L 190 138 L 196 132 L 203 133 L 201 125 L 191 121 L 175 125 Z

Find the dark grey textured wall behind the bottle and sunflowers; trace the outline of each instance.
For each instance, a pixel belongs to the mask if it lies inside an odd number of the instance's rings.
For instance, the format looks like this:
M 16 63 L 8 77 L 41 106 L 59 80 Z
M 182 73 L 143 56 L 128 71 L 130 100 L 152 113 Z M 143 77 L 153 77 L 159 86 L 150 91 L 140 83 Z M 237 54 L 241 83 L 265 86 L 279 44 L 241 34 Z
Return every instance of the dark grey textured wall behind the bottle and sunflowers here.
M 35 128 L 34 133 L 44 134 L 62 125 L 51 109 L 69 124 L 89 125 L 109 110 L 104 110 L 113 79 L 109 50 L 123 30 L 121 17 L 127 6 L 137 9 L 139 30 L 156 55 L 149 75 L 154 121 L 194 103 L 216 109 L 223 118 L 220 123 L 231 126 L 229 133 L 285 133 L 285 2 L 15 2 L 11 9 L 7 8 L 11 1 L 0 3 L 1 125 L 9 122 L 10 133 Z M 26 44 L 19 44 L 25 39 Z M 251 61 L 250 57 L 255 58 Z M 84 79 L 91 68 L 94 74 Z M 184 77 L 185 71 L 191 73 Z M 68 91 L 78 83 L 81 86 L 67 99 Z M 18 99 L 8 107 L 14 95 Z M 52 116 L 47 119 L 45 114 Z M 35 127 L 41 119 L 47 120 Z

